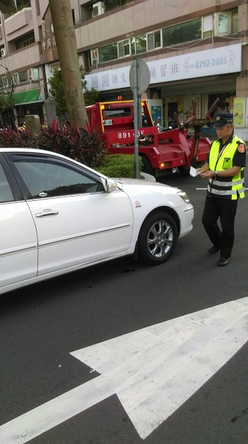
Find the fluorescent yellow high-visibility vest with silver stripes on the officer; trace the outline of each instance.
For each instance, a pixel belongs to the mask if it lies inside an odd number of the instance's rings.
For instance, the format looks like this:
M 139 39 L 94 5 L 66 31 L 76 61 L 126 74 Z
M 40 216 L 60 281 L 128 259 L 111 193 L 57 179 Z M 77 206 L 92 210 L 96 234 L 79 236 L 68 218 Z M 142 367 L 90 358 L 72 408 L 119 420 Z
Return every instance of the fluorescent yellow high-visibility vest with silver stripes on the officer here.
M 224 171 L 232 168 L 233 156 L 240 144 L 244 144 L 244 142 L 237 136 L 233 136 L 233 140 L 224 147 L 218 158 L 220 142 L 215 140 L 211 144 L 209 152 L 209 169 L 211 171 Z M 244 197 L 244 168 L 241 168 L 240 173 L 233 177 L 221 178 L 217 175 L 216 180 L 209 179 L 207 194 L 235 200 L 237 199 L 237 193 L 241 198 Z

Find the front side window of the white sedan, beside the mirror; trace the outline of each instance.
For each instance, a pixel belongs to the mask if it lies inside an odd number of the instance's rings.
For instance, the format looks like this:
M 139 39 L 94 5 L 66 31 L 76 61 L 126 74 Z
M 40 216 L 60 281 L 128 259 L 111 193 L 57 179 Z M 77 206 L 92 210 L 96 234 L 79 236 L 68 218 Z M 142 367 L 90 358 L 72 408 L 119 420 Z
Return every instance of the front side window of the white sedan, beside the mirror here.
M 98 178 L 71 164 L 47 157 L 13 155 L 32 197 L 53 197 L 104 191 Z

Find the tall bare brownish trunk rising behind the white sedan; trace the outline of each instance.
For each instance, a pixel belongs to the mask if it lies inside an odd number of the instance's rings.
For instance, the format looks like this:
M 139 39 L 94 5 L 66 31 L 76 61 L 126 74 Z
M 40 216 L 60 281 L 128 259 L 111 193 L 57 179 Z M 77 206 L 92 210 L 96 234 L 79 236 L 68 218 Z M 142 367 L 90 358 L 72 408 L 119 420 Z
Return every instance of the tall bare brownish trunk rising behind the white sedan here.
M 86 128 L 88 118 L 81 87 L 70 0 L 49 0 L 49 6 L 65 90 L 68 120 L 72 127 Z

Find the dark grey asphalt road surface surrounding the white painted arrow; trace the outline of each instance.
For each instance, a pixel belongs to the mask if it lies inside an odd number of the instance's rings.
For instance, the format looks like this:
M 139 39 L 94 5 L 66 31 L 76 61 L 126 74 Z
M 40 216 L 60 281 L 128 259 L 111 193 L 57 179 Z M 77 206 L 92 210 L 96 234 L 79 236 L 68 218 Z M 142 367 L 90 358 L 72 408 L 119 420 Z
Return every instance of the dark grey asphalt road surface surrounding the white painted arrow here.
M 192 233 L 166 264 L 118 259 L 1 297 L 0 424 L 97 380 L 71 352 L 248 296 L 248 198 L 238 204 L 233 256 L 221 268 L 218 254 L 207 253 L 201 223 L 206 182 L 178 173 L 160 181 L 188 192 L 195 206 Z M 146 438 L 113 393 L 36 438 L 13 442 L 248 444 L 248 342 Z M 0 443 L 10 444 L 1 427 Z

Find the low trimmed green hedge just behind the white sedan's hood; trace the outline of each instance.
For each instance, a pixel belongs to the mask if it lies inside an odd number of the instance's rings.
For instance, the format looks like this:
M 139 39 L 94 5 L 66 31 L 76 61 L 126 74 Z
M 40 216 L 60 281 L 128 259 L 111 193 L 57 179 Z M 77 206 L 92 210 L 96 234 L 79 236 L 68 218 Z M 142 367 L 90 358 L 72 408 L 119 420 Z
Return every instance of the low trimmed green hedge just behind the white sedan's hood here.
M 138 171 L 142 169 L 142 159 L 138 156 Z M 99 173 L 110 178 L 135 178 L 134 154 L 108 154 L 97 168 Z

